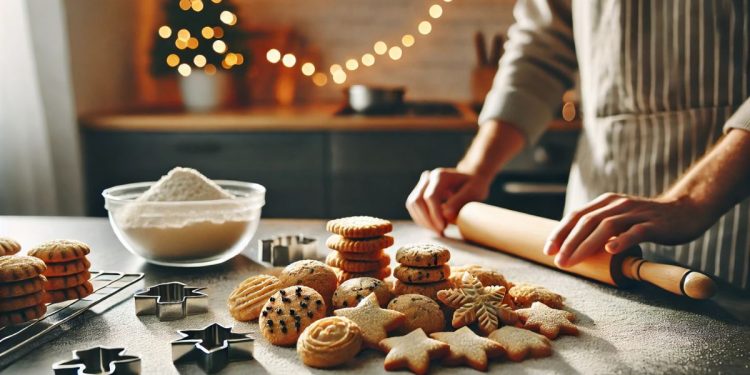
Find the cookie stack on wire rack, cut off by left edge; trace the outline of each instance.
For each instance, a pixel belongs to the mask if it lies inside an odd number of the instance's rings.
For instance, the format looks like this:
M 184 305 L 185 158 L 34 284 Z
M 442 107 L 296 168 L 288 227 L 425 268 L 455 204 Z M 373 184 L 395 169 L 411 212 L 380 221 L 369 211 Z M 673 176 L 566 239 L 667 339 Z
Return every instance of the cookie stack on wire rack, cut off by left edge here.
M 44 304 L 44 262 L 25 255 L 0 256 L 0 328 L 38 319 Z

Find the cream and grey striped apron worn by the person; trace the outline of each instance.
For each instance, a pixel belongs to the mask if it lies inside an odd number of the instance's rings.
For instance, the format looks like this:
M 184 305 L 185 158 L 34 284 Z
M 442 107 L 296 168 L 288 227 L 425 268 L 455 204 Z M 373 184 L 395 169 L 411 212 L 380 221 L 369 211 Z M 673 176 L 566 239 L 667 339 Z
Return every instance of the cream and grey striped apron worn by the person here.
M 605 192 L 658 195 L 748 98 L 750 0 L 581 0 L 572 14 L 585 125 L 566 212 Z M 747 290 L 750 199 L 695 241 L 642 247 Z

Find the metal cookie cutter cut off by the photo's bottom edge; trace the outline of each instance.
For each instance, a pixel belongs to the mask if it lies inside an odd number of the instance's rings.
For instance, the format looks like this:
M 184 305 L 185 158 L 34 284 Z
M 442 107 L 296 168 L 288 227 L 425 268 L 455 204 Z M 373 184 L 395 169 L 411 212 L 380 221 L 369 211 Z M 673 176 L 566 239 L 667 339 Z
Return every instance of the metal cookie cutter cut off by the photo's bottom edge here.
M 97 346 L 73 352 L 73 359 L 52 365 L 55 375 L 141 373 L 141 357 L 124 355 L 124 348 Z

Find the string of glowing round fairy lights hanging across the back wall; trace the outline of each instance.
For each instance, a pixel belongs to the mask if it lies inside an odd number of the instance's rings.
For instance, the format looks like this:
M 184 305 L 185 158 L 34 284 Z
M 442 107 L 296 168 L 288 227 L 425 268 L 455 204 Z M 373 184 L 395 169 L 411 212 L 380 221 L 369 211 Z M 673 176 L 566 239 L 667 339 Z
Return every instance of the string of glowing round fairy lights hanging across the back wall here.
M 453 0 L 443 0 L 445 3 L 450 3 Z M 443 15 L 443 6 L 440 4 L 432 4 L 428 8 L 429 18 L 434 22 Z M 372 52 L 366 52 L 359 58 L 350 58 L 343 62 L 343 64 L 334 63 L 328 68 L 328 73 L 318 71 L 318 68 L 312 62 L 306 61 L 301 62 L 293 53 L 282 53 L 277 48 L 271 48 L 266 52 L 266 60 L 272 64 L 281 63 L 286 68 L 293 69 L 299 67 L 300 72 L 309 77 L 312 82 L 322 87 L 328 84 L 329 80 L 337 85 L 344 84 L 348 78 L 347 71 L 353 72 L 359 68 L 369 68 L 375 64 L 378 56 L 388 57 L 391 60 L 400 60 L 403 57 L 404 49 L 414 45 L 417 41 L 417 37 L 425 37 L 432 32 L 432 22 L 430 19 L 420 21 L 417 24 L 418 35 L 404 34 L 401 37 L 400 43 L 389 46 L 386 42 L 378 40 L 372 44 Z M 298 64 L 300 63 L 300 64 Z M 329 79 L 330 76 L 330 79 Z

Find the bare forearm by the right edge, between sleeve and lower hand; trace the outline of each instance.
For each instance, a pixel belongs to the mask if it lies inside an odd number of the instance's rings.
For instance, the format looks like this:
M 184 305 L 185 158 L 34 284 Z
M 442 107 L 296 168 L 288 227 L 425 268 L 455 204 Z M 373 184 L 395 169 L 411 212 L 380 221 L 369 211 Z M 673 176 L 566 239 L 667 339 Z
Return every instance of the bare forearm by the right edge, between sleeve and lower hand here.
M 695 205 L 715 220 L 748 196 L 750 132 L 734 129 L 661 197 Z

